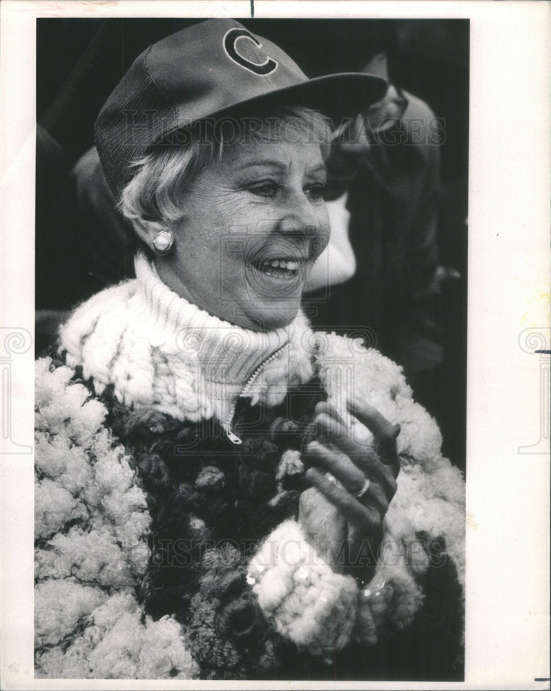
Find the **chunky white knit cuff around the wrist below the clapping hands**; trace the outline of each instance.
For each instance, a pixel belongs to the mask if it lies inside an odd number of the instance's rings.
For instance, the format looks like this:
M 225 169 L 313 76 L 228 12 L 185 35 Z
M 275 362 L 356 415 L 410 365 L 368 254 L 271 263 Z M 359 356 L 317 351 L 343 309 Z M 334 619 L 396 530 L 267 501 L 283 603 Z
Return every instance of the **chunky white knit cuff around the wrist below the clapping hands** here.
M 356 619 L 356 582 L 334 573 L 298 523 L 280 524 L 262 543 L 247 583 L 268 621 L 299 647 L 322 655 L 348 643 Z

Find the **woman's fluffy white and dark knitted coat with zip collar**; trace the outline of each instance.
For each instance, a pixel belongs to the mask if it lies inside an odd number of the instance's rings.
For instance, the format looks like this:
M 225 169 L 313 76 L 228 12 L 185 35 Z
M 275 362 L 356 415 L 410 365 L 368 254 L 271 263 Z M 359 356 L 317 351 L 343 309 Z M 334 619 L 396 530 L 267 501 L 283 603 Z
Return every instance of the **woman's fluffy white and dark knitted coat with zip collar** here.
M 434 419 L 392 361 L 301 315 L 209 375 L 204 343 L 236 331 L 142 256 L 37 361 L 37 674 L 459 679 L 464 485 Z M 378 549 L 335 573 L 297 521 L 300 451 L 316 402 L 352 393 L 400 424 L 401 470 Z

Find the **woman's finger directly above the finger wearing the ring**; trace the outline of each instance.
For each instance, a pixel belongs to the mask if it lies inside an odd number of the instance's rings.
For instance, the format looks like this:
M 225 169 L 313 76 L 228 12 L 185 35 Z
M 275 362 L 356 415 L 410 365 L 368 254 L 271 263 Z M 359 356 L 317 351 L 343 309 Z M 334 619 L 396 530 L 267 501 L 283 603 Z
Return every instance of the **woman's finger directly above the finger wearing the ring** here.
M 371 444 L 366 446 L 363 442 L 358 442 L 356 437 L 351 436 L 348 430 L 325 413 L 318 415 L 314 423 L 316 428 L 323 430 L 322 439 L 329 439 L 331 444 L 345 453 L 369 480 L 382 484 L 387 495 L 394 495 L 396 481 L 392 466 L 385 465 L 380 460 Z

